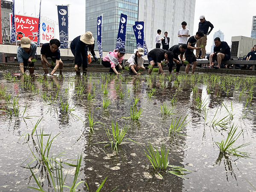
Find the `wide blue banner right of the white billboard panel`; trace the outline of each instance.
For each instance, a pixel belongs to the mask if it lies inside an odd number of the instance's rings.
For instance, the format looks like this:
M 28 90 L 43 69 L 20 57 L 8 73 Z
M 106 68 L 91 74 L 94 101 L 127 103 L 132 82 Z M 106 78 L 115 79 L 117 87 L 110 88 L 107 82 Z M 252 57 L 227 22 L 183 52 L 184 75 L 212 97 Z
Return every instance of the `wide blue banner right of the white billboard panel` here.
M 68 6 L 57 6 L 60 42 L 62 49 L 68 48 Z

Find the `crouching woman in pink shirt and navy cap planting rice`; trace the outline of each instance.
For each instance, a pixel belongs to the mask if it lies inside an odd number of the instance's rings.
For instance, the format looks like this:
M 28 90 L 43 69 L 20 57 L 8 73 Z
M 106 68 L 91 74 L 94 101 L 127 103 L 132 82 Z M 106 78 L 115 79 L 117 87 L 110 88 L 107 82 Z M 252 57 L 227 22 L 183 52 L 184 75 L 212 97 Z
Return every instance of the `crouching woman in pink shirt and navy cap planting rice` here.
M 108 55 L 106 55 L 102 59 L 102 65 L 104 67 L 110 67 L 108 73 L 116 73 L 116 75 L 119 75 L 121 73 L 118 73 L 117 70 L 122 69 L 121 61 L 123 60 L 125 55 L 125 48 L 120 47 L 118 50 L 115 49 L 113 52 L 109 52 Z

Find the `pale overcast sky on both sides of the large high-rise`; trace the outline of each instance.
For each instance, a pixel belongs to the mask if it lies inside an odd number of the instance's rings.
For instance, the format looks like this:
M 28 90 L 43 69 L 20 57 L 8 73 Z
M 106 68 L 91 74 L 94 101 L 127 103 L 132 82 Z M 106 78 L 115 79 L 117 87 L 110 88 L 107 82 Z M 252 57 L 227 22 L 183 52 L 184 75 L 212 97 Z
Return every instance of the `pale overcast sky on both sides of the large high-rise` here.
M 86 32 L 85 30 L 85 2 L 86 0 L 42 0 L 41 15 L 58 22 L 57 6 L 70 4 L 70 39 Z M 39 15 L 40 0 L 15 0 L 16 14 L 28 16 Z M 23 6 L 23 4 L 25 6 Z M 196 0 L 195 22 L 193 33 L 198 30 L 199 16 L 205 15 L 214 29 L 208 36 L 207 52 L 210 52 L 213 34 L 219 29 L 224 33 L 224 41 L 231 44 L 232 36 L 250 37 L 253 15 L 256 15 L 255 0 Z M 58 26 L 56 25 L 56 32 Z

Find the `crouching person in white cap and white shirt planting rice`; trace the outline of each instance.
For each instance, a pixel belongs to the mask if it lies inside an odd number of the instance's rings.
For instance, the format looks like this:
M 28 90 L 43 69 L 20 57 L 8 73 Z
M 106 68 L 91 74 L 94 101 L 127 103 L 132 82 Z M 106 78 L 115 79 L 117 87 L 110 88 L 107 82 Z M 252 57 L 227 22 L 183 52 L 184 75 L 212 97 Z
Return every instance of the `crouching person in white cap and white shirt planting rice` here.
M 145 69 L 143 66 L 144 64 L 144 49 L 143 48 L 138 48 L 136 53 L 133 53 L 131 57 L 125 62 L 125 65 L 129 66 L 129 74 L 135 74 L 135 75 L 140 75 L 141 73 L 137 73 L 140 68 Z

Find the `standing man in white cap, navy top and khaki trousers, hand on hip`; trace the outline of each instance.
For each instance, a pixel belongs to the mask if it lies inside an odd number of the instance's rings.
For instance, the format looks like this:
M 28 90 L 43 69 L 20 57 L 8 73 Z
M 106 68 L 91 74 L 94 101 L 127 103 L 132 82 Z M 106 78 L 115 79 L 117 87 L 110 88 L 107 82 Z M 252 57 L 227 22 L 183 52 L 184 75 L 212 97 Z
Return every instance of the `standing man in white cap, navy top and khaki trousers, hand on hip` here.
M 209 27 L 211 28 L 210 30 L 209 30 Z M 214 27 L 214 26 L 212 25 L 211 22 L 205 20 L 204 15 L 201 15 L 201 16 L 200 16 L 200 22 L 199 22 L 199 25 L 198 25 L 198 31 L 204 32 L 205 35 L 204 35 L 203 38 L 201 38 L 201 39 L 197 42 L 196 47 L 203 46 L 203 47 L 201 48 L 201 52 L 202 52 L 201 58 L 202 58 L 202 59 L 205 58 L 205 47 L 206 47 L 206 44 L 207 44 L 207 35 L 210 34 L 210 32 L 212 31 L 213 27 Z M 209 30 L 209 31 L 208 31 L 208 30 Z M 199 52 L 200 52 L 200 49 L 197 49 L 197 50 L 196 50 L 196 54 L 195 54 L 195 57 L 196 57 L 197 59 L 198 59 Z

